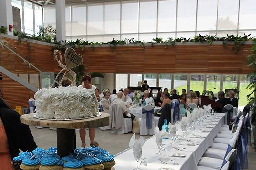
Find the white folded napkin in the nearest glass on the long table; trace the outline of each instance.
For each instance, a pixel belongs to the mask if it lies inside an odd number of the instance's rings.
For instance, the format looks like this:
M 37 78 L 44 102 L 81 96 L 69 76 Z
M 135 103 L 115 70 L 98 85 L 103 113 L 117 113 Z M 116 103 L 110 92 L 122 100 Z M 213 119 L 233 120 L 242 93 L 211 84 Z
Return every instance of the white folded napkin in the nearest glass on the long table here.
M 145 144 L 146 140 L 144 137 L 140 137 L 138 140 L 135 138 L 136 134 L 134 133 L 130 139 L 129 147 L 133 150 L 135 158 L 140 158 L 142 156 L 142 147 Z

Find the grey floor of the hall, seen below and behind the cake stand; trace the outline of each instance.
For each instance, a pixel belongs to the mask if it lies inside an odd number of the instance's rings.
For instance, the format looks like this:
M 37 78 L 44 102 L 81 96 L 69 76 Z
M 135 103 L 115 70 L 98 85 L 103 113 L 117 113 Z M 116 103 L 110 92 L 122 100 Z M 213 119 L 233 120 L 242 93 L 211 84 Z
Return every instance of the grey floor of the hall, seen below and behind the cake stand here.
M 51 146 L 56 146 L 56 131 L 50 130 L 49 128 L 37 129 L 33 126 L 30 126 L 30 129 L 38 147 L 47 149 Z M 88 133 L 88 131 L 86 132 Z M 111 154 L 115 155 L 128 148 L 128 143 L 131 136 L 132 133 L 111 134 L 109 130 L 101 131 L 100 129 L 96 129 L 95 141 L 99 143 L 100 147 L 105 148 Z M 150 136 L 146 136 L 146 138 L 149 137 Z M 254 137 L 252 136 L 252 142 L 253 138 Z M 85 143 L 87 144 L 87 146 L 90 144 L 88 134 L 86 134 Z M 80 147 L 80 145 L 81 140 L 79 136 L 79 131 L 76 130 L 76 147 Z M 254 145 L 248 147 L 248 162 L 248 170 L 256 170 L 256 148 L 254 148 Z

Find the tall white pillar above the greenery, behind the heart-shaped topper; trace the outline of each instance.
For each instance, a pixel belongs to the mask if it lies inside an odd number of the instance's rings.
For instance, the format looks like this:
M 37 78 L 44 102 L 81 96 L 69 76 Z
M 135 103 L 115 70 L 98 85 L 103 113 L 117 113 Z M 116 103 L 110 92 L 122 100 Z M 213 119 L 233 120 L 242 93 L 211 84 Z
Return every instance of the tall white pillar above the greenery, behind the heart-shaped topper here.
M 56 11 L 56 40 L 65 41 L 65 0 L 55 1 Z

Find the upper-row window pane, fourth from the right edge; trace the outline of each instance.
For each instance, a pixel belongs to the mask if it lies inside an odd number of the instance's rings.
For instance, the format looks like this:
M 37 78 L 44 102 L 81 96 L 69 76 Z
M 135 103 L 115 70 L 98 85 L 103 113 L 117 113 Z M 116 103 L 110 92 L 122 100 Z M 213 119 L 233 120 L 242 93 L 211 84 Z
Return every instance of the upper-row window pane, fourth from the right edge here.
M 196 30 L 197 0 L 178 0 L 177 31 Z

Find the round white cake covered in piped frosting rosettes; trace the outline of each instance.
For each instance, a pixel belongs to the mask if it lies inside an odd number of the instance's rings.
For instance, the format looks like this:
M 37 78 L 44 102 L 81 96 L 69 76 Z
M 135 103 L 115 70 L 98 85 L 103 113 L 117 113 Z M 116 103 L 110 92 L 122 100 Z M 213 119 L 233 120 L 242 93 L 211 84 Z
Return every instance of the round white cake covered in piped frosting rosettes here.
M 99 113 L 95 92 L 83 87 L 43 88 L 34 97 L 38 118 L 76 119 Z

